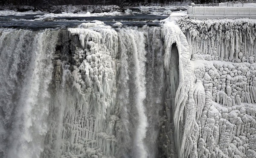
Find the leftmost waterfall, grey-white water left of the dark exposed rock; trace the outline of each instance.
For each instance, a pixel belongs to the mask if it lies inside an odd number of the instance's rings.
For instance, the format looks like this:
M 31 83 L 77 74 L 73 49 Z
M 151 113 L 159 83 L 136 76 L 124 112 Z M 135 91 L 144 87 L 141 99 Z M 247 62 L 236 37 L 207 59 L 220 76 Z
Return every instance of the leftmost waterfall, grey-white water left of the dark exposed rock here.
M 0 30 L 0 155 L 39 158 L 58 31 Z

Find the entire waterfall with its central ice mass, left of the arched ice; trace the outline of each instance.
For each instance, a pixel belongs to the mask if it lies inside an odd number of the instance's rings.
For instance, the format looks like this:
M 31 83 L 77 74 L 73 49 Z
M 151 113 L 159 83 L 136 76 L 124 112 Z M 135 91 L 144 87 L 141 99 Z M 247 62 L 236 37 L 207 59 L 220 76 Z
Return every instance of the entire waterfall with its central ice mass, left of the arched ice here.
M 166 29 L 1 29 L 0 156 L 174 156 Z

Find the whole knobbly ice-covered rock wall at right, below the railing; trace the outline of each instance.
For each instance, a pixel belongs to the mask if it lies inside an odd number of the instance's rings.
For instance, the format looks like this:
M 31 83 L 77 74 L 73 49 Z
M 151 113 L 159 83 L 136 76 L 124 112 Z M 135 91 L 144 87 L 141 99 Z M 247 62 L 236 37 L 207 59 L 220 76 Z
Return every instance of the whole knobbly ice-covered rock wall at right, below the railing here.
M 192 54 L 198 124 L 186 156 L 254 158 L 255 22 L 182 18 L 177 24 Z

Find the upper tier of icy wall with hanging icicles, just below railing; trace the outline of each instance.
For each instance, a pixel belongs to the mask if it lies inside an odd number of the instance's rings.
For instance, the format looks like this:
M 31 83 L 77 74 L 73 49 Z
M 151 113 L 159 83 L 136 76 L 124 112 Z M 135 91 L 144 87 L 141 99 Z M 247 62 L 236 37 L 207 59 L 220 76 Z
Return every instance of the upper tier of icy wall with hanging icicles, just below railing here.
M 192 59 L 253 63 L 256 23 L 249 19 L 177 21 L 191 43 Z

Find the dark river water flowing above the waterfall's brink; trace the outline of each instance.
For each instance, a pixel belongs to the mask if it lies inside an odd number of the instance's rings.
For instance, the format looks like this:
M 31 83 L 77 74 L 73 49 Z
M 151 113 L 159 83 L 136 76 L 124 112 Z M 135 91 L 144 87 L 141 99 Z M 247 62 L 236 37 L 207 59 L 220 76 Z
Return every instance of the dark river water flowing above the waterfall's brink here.
M 26 14 L 23 16 L 0 16 L 0 27 L 4 28 L 29 28 L 32 30 L 44 28 L 73 28 L 81 23 L 93 20 L 103 21 L 107 25 L 121 22 L 127 26 L 159 25 L 160 20 L 168 16 L 151 15 L 150 13 L 140 13 L 134 15 L 101 16 L 101 17 L 54 17 L 53 21 L 36 21 L 37 15 Z

